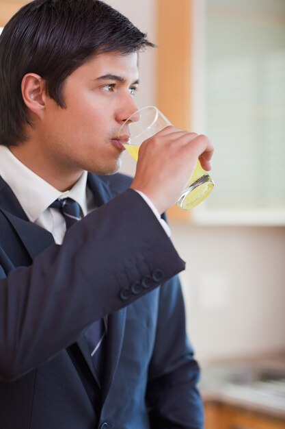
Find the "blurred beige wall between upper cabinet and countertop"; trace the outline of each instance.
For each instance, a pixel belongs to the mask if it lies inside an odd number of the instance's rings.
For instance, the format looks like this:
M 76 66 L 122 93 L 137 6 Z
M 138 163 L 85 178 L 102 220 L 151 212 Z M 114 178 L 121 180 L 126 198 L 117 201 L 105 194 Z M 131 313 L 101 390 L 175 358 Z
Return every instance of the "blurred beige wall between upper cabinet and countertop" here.
M 172 225 L 172 236 L 198 356 L 285 350 L 285 228 Z

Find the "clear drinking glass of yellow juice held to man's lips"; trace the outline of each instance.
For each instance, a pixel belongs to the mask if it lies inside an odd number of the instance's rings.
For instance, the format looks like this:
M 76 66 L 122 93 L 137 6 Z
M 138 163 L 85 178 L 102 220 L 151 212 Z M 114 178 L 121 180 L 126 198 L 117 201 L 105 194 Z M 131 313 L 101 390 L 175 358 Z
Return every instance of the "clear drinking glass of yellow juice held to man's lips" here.
M 139 118 L 137 120 L 137 118 Z M 154 136 L 157 132 L 163 130 L 168 125 L 172 125 L 170 121 L 159 111 L 155 106 L 146 106 L 131 117 L 126 119 L 120 127 L 118 136 L 129 136 L 128 141 L 124 143 L 124 147 L 128 154 L 137 161 L 139 154 L 139 146 L 144 140 Z M 171 177 L 169 177 L 171 180 Z M 213 190 L 214 182 L 204 169 L 202 169 L 200 161 L 197 161 L 195 169 L 187 182 L 185 190 L 182 192 L 176 205 L 184 210 L 189 210 L 200 204 L 209 193 Z

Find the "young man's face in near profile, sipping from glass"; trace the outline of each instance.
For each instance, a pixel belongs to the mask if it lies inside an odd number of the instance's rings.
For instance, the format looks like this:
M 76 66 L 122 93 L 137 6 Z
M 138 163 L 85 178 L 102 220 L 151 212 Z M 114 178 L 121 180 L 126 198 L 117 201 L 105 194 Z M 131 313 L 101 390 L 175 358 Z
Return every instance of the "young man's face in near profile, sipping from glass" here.
M 137 110 L 133 92 L 138 77 L 137 53 L 102 53 L 75 70 L 64 84 L 66 108 L 46 99 L 40 124 L 46 162 L 62 172 L 116 172 L 124 149 L 116 136 Z

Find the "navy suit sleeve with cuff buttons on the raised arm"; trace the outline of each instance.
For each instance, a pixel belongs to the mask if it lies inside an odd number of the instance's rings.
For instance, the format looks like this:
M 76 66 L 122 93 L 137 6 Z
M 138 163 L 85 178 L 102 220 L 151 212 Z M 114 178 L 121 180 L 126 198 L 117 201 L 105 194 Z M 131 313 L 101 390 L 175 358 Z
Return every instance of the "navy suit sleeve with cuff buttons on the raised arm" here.
M 0 259 L 0 278 L 5 262 Z M 68 230 L 63 245 L 0 280 L 0 379 L 40 365 L 94 320 L 184 268 L 146 202 L 131 189 L 115 197 Z M 150 277 L 150 285 L 133 292 L 133 282 Z

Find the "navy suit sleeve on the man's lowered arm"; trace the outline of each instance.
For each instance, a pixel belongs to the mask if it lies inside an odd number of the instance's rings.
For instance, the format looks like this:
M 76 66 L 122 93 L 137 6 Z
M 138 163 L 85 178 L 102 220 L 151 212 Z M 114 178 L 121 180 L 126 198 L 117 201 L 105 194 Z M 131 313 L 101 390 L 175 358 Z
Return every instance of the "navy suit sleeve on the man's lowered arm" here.
M 185 308 L 177 276 L 160 289 L 157 338 L 146 398 L 153 429 L 202 429 L 204 411 L 196 387 L 198 363 L 185 332 Z

